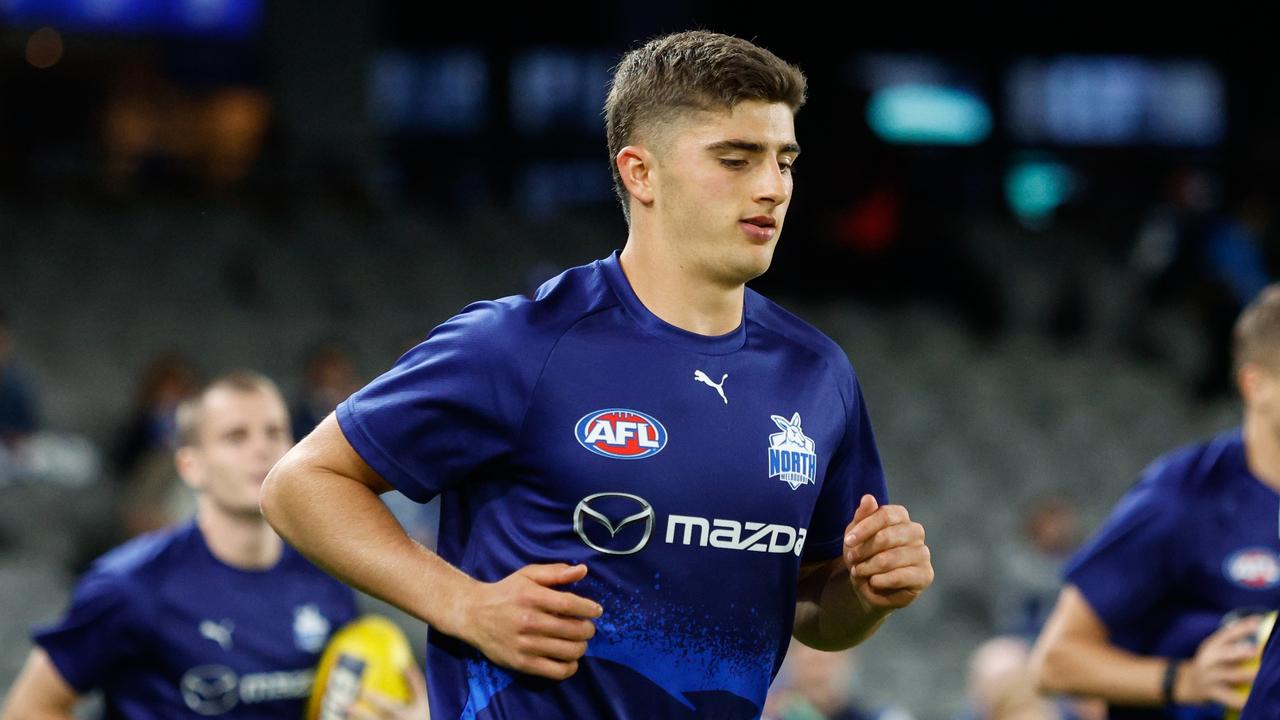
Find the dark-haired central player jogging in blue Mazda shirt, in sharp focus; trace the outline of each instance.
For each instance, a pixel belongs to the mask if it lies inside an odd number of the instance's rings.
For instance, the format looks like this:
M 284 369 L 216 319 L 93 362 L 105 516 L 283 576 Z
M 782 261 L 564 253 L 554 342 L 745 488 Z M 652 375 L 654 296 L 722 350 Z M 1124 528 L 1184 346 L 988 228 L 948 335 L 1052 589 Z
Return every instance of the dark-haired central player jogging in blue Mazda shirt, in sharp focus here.
M 622 252 L 467 306 L 268 478 L 289 542 L 430 624 L 433 717 L 755 717 L 792 633 L 856 644 L 931 584 L 844 351 L 745 288 L 804 95 L 735 37 L 628 53 Z M 393 488 L 440 496 L 439 555 Z

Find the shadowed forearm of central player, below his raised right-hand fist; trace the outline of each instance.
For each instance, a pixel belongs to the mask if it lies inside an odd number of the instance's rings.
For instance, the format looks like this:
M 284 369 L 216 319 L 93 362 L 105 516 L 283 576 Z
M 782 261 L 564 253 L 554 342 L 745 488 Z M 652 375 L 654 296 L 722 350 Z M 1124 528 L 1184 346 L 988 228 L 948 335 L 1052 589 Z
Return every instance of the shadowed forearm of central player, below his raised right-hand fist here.
M 836 557 L 800 582 L 792 634 L 815 650 L 845 650 L 872 637 L 890 612 L 869 609 L 858 598 L 849 571 Z

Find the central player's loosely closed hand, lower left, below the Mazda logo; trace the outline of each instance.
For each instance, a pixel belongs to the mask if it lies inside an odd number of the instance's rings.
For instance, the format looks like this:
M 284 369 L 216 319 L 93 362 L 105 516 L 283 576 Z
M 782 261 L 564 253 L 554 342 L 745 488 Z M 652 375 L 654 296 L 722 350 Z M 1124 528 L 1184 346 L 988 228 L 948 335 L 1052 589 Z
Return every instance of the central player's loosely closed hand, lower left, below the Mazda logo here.
M 586 565 L 526 565 L 497 583 L 479 583 L 466 598 L 462 639 L 503 667 L 571 676 L 595 637 L 591 620 L 604 609 L 552 588 L 585 577 Z

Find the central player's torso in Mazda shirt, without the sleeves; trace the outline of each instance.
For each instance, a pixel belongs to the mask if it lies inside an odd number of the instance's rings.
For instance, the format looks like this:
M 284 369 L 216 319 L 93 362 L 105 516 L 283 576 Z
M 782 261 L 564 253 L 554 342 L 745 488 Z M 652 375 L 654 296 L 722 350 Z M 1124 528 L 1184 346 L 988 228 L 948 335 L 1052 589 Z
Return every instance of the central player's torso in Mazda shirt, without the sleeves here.
M 641 696 L 692 711 L 710 693 L 705 711 L 735 716 L 724 703 L 763 698 L 785 650 L 845 421 L 829 368 L 764 331 L 710 355 L 589 318 L 548 359 L 507 482 L 477 488 L 463 569 L 585 562 L 572 591 L 605 609 L 580 679 L 609 689 L 593 702 L 640 716 Z

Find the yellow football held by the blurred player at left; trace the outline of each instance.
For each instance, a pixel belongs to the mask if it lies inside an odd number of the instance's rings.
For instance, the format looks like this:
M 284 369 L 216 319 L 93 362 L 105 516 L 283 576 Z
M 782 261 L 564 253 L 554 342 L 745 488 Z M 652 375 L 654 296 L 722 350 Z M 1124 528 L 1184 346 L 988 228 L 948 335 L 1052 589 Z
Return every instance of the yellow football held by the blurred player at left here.
M 404 673 L 412 666 L 413 651 L 394 623 L 378 615 L 352 620 L 320 656 L 306 720 L 346 720 L 364 689 L 407 703 Z

